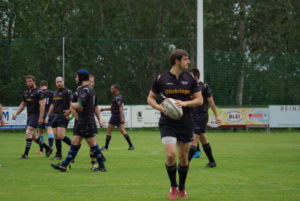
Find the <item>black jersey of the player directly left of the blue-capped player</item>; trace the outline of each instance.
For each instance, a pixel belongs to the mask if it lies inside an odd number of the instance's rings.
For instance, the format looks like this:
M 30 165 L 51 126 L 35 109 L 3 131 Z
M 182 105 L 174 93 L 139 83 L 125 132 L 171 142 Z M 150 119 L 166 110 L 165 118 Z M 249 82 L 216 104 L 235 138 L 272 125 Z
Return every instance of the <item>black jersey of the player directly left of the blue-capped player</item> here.
M 54 105 L 54 114 L 64 114 L 64 110 L 70 109 L 70 102 L 72 101 L 72 91 L 68 88 L 56 90 L 53 93 L 52 104 Z

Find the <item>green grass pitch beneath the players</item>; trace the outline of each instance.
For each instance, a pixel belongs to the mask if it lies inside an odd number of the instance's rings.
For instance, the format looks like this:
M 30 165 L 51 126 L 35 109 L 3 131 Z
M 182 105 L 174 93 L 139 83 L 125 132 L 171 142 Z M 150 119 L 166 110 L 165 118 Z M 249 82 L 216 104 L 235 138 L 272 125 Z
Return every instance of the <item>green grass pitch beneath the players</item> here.
M 71 132 L 68 133 L 71 137 Z M 128 151 L 125 139 L 114 132 L 104 152 L 108 171 L 90 171 L 84 142 L 72 169 L 50 167 L 32 145 L 29 160 L 23 153 L 22 133 L 0 133 L 1 201 L 168 200 L 169 180 L 159 131 L 132 131 L 136 147 Z M 299 201 L 300 132 L 212 132 L 208 135 L 217 167 L 206 169 L 207 158 L 190 164 L 186 189 L 189 200 Z M 98 142 L 103 145 L 104 131 Z M 63 144 L 63 155 L 68 147 Z

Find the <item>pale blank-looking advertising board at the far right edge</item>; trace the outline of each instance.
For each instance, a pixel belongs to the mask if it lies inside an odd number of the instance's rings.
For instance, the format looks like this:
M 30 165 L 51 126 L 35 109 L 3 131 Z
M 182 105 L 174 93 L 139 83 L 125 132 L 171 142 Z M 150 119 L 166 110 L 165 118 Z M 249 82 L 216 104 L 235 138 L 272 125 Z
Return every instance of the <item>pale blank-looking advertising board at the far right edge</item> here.
M 300 128 L 300 105 L 270 105 L 270 128 Z

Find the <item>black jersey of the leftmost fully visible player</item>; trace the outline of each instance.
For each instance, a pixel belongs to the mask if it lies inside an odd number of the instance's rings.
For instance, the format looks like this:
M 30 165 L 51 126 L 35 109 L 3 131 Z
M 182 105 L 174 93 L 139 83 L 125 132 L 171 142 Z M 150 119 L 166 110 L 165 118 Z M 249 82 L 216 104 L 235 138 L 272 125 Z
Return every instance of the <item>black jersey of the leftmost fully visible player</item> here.
M 45 94 L 39 88 L 35 88 L 32 91 L 29 89 L 24 91 L 23 101 L 26 103 L 27 115 L 40 114 L 39 101 L 45 98 Z

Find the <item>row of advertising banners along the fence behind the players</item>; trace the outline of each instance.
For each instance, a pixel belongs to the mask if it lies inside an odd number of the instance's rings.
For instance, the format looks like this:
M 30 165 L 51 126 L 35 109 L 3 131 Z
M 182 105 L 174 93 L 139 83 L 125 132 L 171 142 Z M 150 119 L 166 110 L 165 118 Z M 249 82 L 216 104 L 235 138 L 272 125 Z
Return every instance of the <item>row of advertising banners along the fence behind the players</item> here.
M 110 105 L 99 105 L 99 108 L 107 108 Z M 271 122 L 273 127 L 297 127 L 300 124 L 300 106 L 270 106 L 272 109 Z M 27 114 L 26 109 L 12 120 L 12 115 L 17 107 L 3 107 L 5 127 L 0 129 L 25 129 Z M 209 109 L 208 126 L 217 127 L 268 127 L 269 108 L 217 108 L 221 124 L 217 124 L 215 116 Z M 101 112 L 101 120 L 107 128 L 111 116 L 110 111 Z M 124 106 L 125 127 L 143 128 L 158 127 L 160 112 L 149 105 Z M 96 117 L 95 117 L 96 118 Z M 99 125 L 97 124 L 98 128 Z M 68 128 L 74 127 L 74 118 L 69 121 Z M 299 126 L 300 127 L 300 126 Z

